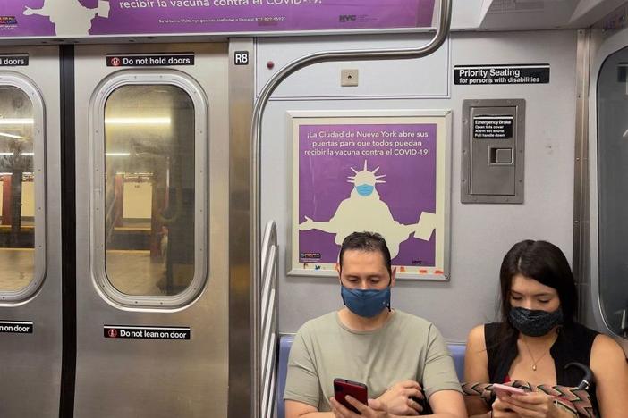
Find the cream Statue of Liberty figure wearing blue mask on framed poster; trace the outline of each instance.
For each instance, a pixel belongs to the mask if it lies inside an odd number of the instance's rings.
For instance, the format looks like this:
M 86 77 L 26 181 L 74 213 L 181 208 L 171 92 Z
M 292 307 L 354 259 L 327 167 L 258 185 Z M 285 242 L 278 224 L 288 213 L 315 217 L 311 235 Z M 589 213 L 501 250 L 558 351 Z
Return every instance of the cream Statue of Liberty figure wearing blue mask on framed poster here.
M 410 238 L 411 234 L 414 234 L 414 238 L 429 240 L 436 228 L 436 213 L 422 212 L 417 223 L 410 225 L 396 222 L 386 202 L 379 198 L 376 188 L 378 183 L 386 183 L 385 180 L 380 180 L 386 177 L 386 174 L 376 175 L 379 167 L 369 171 L 367 163 L 365 160 L 361 171 L 351 167 L 355 174 L 349 176 L 347 180 L 354 185 L 351 196 L 338 205 L 329 221 L 317 222 L 305 216 L 299 230 L 322 230 L 335 234 L 337 245 L 341 245 L 344 237 L 354 231 L 378 232 L 386 239 L 391 258 L 395 258 L 399 253 L 399 245 Z

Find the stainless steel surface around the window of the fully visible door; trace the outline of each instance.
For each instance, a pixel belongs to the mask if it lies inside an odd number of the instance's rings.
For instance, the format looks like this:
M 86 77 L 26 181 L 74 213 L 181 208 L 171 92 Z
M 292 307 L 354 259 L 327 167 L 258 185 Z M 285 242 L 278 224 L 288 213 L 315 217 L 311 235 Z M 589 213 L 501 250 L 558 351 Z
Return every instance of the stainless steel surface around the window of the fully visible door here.
M 100 83 L 121 71 L 106 66 L 106 54 L 160 53 L 195 55 L 193 66 L 168 67 L 166 71 L 181 71 L 195 80 L 208 103 L 208 171 L 204 171 L 205 179 L 197 176 L 196 180 L 197 190 L 208 185 L 208 213 L 205 230 L 195 228 L 195 233 L 207 236 L 203 250 L 208 260 L 207 286 L 190 305 L 169 310 L 124 306 L 106 297 L 98 289 L 90 250 L 98 214 L 90 190 L 95 144 L 89 142 L 94 138 L 89 129 L 97 128 L 89 126 L 88 104 Z M 75 56 L 78 278 L 74 416 L 225 417 L 229 317 L 227 47 L 77 46 Z M 142 70 L 135 67 L 133 71 Z M 103 335 L 104 325 L 191 327 L 191 339 L 108 339 Z

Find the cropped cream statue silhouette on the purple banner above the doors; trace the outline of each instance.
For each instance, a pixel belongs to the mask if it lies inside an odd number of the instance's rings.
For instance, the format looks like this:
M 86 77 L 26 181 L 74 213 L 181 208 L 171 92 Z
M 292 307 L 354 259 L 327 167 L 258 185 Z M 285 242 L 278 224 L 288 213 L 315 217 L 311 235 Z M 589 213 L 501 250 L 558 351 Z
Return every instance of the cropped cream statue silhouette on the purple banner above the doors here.
M 26 7 L 24 15 L 47 16 L 55 25 L 57 35 L 89 35 L 91 20 L 97 15 L 109 17 L 109 0 L 98 0 L 98 7 L 90 9 L 79 0 L 45 0 L 39 9 Z

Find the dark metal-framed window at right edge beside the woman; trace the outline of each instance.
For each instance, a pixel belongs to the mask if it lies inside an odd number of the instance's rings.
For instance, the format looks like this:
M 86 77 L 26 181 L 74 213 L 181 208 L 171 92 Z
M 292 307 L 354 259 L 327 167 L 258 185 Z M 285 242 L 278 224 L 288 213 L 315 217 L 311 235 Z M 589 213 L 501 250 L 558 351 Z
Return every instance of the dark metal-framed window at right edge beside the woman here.
M 628 34 L 599 46 L 591 71 L 591 299 L 598 330 L 619 342 L 628 358 Z

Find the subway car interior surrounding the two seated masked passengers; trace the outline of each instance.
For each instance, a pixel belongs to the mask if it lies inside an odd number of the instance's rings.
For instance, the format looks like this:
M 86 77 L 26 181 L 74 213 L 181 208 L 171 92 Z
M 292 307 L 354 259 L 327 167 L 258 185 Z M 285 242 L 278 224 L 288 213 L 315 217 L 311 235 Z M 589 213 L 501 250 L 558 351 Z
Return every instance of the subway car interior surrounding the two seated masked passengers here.
M 461 382 L 523 239 L 628 356 L 626 112 L 623 0 L 4 0 L 0 417 L 284 418 L 353 231 Z

